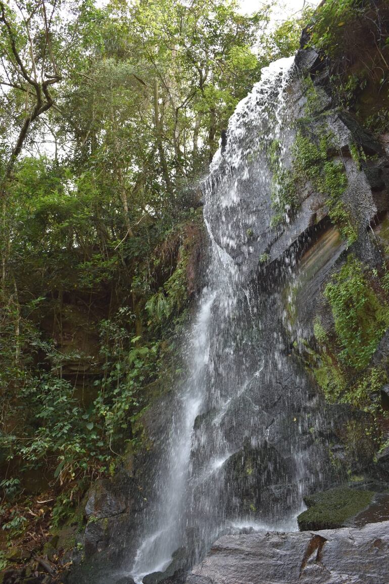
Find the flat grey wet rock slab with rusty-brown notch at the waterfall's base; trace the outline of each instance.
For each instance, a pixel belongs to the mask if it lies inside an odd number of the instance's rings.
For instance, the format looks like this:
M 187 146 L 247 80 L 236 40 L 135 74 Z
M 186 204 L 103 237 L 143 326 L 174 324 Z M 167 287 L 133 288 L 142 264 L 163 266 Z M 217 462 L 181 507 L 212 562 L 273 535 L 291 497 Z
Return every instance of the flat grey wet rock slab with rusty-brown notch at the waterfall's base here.
M 389 522 L 221 537 L 185 584 L 387 584 Z

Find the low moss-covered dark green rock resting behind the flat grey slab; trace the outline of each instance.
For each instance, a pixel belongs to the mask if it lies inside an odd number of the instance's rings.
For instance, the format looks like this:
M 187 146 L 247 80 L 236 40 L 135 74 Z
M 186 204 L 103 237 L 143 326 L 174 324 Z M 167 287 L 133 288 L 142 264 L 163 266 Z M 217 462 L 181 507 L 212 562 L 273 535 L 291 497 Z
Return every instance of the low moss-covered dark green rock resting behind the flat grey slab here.
M 372 502 L 373 491 L 357 491 L 346 486 L 304 498 L 308 509 L 297 517 L 300 531 L 337 529 Z

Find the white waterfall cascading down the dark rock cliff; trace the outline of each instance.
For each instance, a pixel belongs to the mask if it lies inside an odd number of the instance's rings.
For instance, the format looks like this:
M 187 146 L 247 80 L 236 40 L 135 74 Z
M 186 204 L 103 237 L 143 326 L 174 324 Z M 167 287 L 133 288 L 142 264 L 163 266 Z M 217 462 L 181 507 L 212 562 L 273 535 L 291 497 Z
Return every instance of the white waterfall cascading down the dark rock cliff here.
M 288 355 L 282 290 L 261 274 L 258 281 L 258 266 L 274 259 L 267 249 L 293 240 L 285 227 L 270 227 L 277 190 L 268 161 L 276 140 L 279 164 L 290 164 L 292 72 L 293 58 L 263 69 L 204 183 L 208 286 L 185 347 L 187 381 L 177 391 L 155 500 L 128 566 L 136 582 L 163 571 L 181 546 L 193 562 L 223 530 L 291 529 L 306 485 L 320 481 L 307 439 L 315 398 Z M 277 269 L 292 266 L 288 256 Z

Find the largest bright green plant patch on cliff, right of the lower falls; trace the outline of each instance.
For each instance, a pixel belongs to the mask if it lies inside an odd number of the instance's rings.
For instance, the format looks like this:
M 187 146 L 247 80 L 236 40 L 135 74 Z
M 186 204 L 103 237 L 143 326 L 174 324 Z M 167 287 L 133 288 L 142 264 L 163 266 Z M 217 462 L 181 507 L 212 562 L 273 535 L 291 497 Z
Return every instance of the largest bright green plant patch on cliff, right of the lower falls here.
M 377 283 L 379 280 L 372 281 L 362 264 L 350 255 L 324 289 L 334 328 L 325 330 L 317 317 L 316 349 L 306 347 L 309 366 L 327 401 L 348 404 L 366 413 L 362 427 L 355 429 L 362 432 L 360 440 L 366 444 L 369 440 L 380 444 L 381 419 L 386 415 L 380 390 L 388 381 L 387 373 L 383 366 L 371 364 L 389 325 L 387 294 Z M 350 439 L 352 436 L 350 432 Z

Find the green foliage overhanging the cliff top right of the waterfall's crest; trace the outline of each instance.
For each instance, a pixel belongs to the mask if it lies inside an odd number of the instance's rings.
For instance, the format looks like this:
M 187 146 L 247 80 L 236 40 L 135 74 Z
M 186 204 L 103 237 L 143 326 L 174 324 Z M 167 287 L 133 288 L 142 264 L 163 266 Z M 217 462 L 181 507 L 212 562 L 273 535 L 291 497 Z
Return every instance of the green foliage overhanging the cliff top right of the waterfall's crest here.
M 322 60 L 330 57 L 334 99 L 377 137 L 386 131 L 389 111 L 388 15 L 385 0 L 326 0 L 308 27 L 309 46 Z

